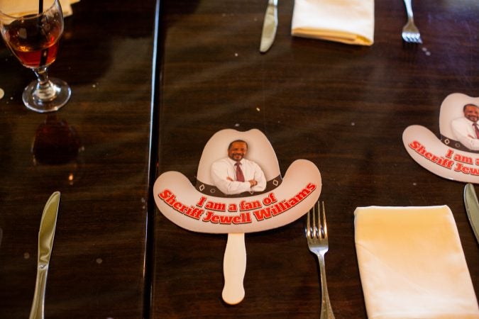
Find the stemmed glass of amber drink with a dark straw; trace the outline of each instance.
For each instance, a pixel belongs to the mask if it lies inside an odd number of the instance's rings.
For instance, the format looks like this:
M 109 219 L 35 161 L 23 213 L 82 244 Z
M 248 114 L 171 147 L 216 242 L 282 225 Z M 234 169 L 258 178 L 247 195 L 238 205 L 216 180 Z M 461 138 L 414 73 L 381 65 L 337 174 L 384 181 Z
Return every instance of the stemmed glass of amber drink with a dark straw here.
M 35 3 L 35 1 L 23 1 Z M 45 9 L 44 9 L 45 8 Z M 1 35 L 24 67 L 35 72 L 37 81 L 23 90 L 23 103 L 40 113 L 57 111 L 70 99 L 70 86 L 60 79 L 48 78 L 48 66 L 55 61 L 58 40 L 63 32 L 63 13 L 59 0 L 40 0 L 38 6 L 23 12 L 1 8 Z

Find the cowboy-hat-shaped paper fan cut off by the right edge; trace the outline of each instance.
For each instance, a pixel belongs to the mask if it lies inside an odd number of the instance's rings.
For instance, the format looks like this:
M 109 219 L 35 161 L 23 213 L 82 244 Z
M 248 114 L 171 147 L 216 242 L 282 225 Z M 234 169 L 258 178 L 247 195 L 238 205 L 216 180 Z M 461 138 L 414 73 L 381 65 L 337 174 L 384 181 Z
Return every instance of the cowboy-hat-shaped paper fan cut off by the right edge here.
M 422 167 L 454 181 L 479 183 L 479 98 L 453 93 L 439 113 L 441 140 L 420 125 L 402 133 L 404 147 Z

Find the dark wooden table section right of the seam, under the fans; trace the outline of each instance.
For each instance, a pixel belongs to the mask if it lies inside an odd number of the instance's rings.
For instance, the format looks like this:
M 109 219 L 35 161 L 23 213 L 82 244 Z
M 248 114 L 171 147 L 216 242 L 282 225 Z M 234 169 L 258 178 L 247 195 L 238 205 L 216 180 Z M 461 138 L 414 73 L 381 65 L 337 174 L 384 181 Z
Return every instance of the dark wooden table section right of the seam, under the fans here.
M 354 246 L 358 206 L 448 205 L 479 296 L 479 245 L 463 205 L 465 184 L 426 171 L 402 144 L 413 124 L 439 136 L 448 94 L 479 95 L 478 1 L 416 1 L 424 40 L 417 47 L 402 43 L 401 0 L 375 1 L 371 47 L 292 38 L 293 1 L 279 1 L 275 43 L 261 55 L 267 2 L 161 1 L 158 174 L 181 172 L 195 184 L 211 135 L 258 128 L 282 174 L 301 158 L 321 171 L 336 318 L 366 318 Z M 226 235 L 189 232 L 157 211 L 152 318 L 318 318 L 318 269 L 303 228 L 301 218 L 246 234 L 246 297 L 227 306 Z

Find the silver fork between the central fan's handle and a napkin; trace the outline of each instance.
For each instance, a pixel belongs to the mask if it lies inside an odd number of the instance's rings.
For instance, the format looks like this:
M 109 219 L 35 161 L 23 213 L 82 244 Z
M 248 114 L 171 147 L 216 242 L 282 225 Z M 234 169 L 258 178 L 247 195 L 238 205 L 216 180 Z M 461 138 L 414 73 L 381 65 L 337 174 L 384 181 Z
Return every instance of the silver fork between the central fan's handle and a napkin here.
M 317 206 L 317 208 L 316 208 Z M 328 228 L 326 226 L 326 211 L 324 210 L 324 201 L 308 212 L 306 228 L 306 238 L 311 252 L 316 254 L 319 262 L 319 271 L 321 272 L 321 319 L 334 319 L 333 308 L 329 301 L 328 286 L 326 285 L 326 270 L 324 269 L 324 254 L 328 251 Z M 321 209 L 322 208 L 322 209 Z M 321 216 L 320 216 L 320 211 Z M 316 223 L 317 220 L 317 223 Z

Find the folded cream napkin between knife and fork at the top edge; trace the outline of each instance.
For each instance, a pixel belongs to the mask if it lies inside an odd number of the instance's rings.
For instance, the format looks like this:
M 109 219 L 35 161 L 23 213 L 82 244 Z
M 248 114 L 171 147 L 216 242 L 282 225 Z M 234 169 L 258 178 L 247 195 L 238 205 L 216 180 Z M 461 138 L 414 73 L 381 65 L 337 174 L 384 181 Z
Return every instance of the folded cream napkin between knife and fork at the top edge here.
M 372 45 L 374 0 L 294 0 L 291 34 Z

